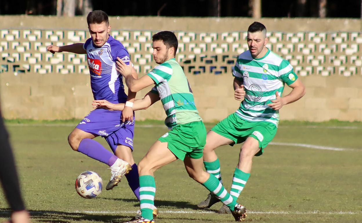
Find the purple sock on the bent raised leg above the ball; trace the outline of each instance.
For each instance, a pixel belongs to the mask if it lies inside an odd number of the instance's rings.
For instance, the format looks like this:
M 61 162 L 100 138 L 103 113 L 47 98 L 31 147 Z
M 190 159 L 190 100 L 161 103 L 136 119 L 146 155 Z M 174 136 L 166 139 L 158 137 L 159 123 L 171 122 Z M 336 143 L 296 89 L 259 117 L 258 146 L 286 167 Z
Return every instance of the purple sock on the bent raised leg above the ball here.
M 117 160 L 117 156 L 101 145 L 101 143 L 85 138 L 80 141 L 78 152 L 83 153 L 90 158 L 96 159 L 102 163 L 112 166 Z M 136 168 L 137 170 L 137 168 Z M 138 173 L 137 173 L 138 176 Z

